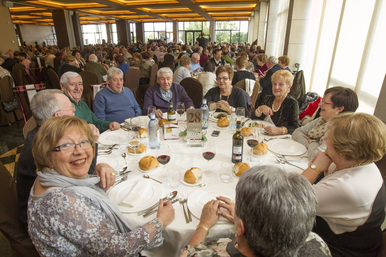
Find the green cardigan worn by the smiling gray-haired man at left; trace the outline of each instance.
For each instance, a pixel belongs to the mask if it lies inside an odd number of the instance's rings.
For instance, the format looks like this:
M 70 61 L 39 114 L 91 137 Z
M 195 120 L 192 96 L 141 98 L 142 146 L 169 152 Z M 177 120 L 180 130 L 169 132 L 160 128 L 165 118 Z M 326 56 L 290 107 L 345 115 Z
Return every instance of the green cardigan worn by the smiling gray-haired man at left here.
M 78 103 L 68 95 L 64 95 L 67 96 L 68 99 L 70 99 L 70 101 L 74 103 L 74 114 L 76 117 L 84 119 L 87 123 L 94 124 L 95 127 L 99 129 L 100 133 L 109 129 L 108 125 L 110 125 L 110 121 L 102 121 L 101 119 L 98 119 L 97 116 L 95 116 L 95 114 L 90 110 L 90 108 L 88 108 L 87 104 L 83 102 L 83 98 L 81 98 L 80 102 Z

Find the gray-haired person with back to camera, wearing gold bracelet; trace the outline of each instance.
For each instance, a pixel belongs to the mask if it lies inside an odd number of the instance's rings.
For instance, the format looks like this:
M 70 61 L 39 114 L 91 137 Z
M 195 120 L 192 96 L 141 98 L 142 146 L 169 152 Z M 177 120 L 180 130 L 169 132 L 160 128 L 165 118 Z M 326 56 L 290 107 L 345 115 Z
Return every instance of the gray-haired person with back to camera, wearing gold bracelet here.
M 235 200 L 216 198 L 204 205 L 196 232 L 181 256 L 208 251 L 210 256 L 331 256 L 327 244 L 312 232 L 317 197 L 300 174 L 273 165 L 254 166 L 240 177 Z M 219 215 L 234 223 L 236 238 L 203 243 Z

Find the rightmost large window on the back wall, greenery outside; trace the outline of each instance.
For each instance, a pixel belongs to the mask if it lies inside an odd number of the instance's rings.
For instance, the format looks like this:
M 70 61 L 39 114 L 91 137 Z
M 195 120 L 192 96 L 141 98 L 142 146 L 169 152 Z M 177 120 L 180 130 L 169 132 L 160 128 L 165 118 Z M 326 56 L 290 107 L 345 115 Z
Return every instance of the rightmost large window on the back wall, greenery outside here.
M 215 41 L 246 42 L 248 38 L 248 21 L 215 22 Z

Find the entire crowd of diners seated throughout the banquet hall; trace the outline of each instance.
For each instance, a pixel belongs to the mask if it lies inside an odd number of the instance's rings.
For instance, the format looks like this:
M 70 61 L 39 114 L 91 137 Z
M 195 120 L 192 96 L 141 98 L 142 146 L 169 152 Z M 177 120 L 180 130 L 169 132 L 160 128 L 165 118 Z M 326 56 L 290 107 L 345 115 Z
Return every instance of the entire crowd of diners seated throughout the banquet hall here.
M 272 124 L 264 127 L 267 134 L 291 134 L 308 149 L 310 166 L 300 175 L 274 165 L 245 171 L 235 201 L 217 197 L 208 202 L 199 222 L 210 230 L 220 216 L 227 218 L 235 237 L 224 234 L 205 242 L 207 230 L 198 228 L 181 256 L 377 255 L 386 190 L 374 162 L 386 153 L 386 125 L 355 113 L 359 102 L 351 89 L 327 89 L 318 104 L 320 117 L 300 127 L 300 106 L 289 94 L 294 83 L 289 57 L 267 57 L 257 45 L 213 44 L 202 34 L 193 45 L 137 40 L 127 47 L 85 45 L 83 51 L 37 44 L 21 50 L 0 53 L 0 77 L 12 76 L 16 63 L 27 67 L 39 60 L 52 67 L 57 58 L 60 64 L 61 90 L 37 92 L 30 102 L 37 128 L 28 133 L 17 164 L 19 219 L 42 256 L 142 256 L 142 250 L 163 244 L 173 206 L 161 199 L 156 218 L 130 227 L 106 195 L 115 173 L 107 164 L 96 165 L 97 140 L 127 118 L 147 115 L 150 106 L 158 117 L 170 100 L 174 109 L 177 102 L 194 109 L 180 84 L 186 77 L 196 77 L 202 97 L 215 102 L 216 111 L 230 114 L 242 107 L 245 117 Z M 154 84 L 152 67 L 167 55 L 178 67 L 159 66 Z M 124 81 L 125 72 L 136 68 L 141 99 Z M 82 98 L 81 71 L 107 82 L 95 94 L 93 111 Z M 261 87 L 256 106 L 251 94 L 235 86 L 245 79 Z

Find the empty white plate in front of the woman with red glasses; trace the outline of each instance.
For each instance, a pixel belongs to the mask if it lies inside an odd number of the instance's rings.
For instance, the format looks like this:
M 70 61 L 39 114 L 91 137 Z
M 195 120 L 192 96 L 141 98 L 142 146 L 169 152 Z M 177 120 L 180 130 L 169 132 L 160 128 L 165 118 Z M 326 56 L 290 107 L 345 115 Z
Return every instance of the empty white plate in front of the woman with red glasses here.
M 289 139 L 274 139 L 266 142 L 268 149 L 281 155 L 296 156 L 302 155 L 307 148 L 296 141 Z

